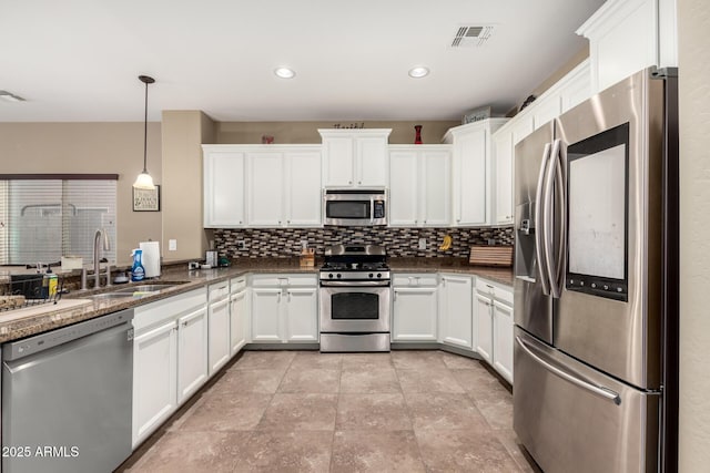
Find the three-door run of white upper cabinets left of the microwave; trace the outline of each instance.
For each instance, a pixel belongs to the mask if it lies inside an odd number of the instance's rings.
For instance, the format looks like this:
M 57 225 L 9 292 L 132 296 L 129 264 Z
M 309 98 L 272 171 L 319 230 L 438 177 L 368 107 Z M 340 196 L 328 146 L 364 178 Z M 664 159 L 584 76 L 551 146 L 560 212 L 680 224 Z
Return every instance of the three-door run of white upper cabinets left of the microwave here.
M 204 226 L 321 226 L 320 145 L 203 145 Z

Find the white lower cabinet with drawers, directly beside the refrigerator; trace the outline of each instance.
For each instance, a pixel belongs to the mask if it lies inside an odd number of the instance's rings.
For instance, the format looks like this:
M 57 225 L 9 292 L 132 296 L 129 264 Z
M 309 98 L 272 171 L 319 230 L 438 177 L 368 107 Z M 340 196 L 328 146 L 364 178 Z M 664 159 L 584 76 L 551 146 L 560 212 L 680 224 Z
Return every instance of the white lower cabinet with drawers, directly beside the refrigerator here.
M 513 383 L 513 290 L 476 279 L 476 351 Z

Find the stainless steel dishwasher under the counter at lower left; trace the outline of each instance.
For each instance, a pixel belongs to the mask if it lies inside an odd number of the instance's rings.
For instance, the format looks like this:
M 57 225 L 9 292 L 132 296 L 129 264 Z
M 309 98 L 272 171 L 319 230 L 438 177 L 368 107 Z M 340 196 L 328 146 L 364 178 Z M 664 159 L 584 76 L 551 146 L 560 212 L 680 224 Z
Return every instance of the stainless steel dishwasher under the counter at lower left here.
M 133 309 L 2 346 L 2 472 L 111 472 L 131 454 Z

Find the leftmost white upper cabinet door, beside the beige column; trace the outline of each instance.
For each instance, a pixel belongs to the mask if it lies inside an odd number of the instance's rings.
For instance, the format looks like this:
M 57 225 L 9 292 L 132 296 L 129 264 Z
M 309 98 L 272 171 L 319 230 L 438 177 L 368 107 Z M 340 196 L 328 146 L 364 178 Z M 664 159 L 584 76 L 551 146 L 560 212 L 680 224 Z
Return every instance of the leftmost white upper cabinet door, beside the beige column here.
M 203 146 L 204 227 L 231 228 L 244 225 L 243 152 Z

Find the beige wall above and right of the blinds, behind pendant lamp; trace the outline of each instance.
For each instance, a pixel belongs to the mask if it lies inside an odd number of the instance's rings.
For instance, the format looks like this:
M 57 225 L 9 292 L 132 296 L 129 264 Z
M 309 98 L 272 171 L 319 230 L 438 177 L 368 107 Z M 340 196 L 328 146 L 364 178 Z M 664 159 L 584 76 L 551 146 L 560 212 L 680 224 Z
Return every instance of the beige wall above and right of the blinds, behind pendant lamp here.
M 161 125 L 149 123 L 148 171 L 161 183 Z M 133 212 L 132 184 L 143 169 L 143 123 L 0 123 L 0 173 L 118 174 L 119 264 L 139 241 L 161 238 L 160 212 Z M 112 244 L 115 245 L 114 241 Z

